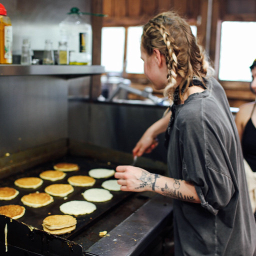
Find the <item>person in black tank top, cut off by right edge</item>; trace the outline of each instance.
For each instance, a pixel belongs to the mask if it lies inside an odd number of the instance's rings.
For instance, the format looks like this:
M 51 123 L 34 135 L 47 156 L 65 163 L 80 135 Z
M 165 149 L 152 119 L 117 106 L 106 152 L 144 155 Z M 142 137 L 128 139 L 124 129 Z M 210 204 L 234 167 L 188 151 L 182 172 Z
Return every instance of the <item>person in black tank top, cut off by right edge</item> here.
M 252 81 L 250 90 L 256 94 L 256 59 L 250 66 Z M 256 179 L 256 101 L 242 104 L 235 117 L 237 131 L 240 137 L 243 158 L 249 167 L 255 172 Z M 254 212 L 256 221 L 256 210 Z

